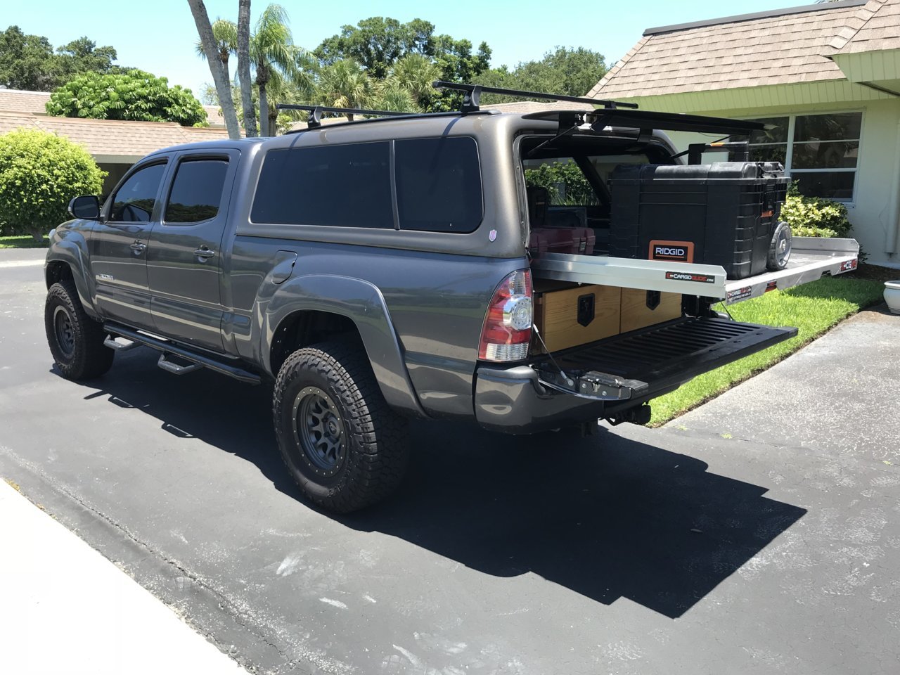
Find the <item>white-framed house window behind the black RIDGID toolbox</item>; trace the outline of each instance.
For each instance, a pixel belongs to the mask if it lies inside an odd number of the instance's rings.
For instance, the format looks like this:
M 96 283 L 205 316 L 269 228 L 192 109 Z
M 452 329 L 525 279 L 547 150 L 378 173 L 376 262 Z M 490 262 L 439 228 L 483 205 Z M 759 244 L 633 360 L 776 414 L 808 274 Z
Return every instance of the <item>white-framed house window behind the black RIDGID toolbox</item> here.
M 811 197 L 853 201 L 862 112 L 764 117 L 770 128 L 750 135 L 754 162 L 781 162 Z M 738 139 L 747 139 L 746 136 Z M 735 157 L 736 158 L 736 157 Z

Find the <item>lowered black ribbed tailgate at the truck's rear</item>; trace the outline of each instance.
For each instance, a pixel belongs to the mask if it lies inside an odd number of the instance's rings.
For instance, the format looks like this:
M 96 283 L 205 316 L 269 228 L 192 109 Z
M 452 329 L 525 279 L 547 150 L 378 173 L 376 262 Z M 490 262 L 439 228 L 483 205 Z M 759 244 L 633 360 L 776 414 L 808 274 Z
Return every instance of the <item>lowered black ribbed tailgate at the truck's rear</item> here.
M 556 391 L 598 401 L 648 399 L 796 335 L 794 328 L 683 317 L 557 352 L 533 366 Z

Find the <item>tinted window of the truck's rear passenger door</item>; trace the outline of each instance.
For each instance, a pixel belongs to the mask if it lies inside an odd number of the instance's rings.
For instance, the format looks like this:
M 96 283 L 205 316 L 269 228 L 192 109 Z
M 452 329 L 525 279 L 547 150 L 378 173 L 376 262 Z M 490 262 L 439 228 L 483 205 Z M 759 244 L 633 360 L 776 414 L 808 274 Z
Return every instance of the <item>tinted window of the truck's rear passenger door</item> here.
M 166 222 L 199 222 L 219 212 L 227 159 L 185 159 L 178 165 L 166 204 Z

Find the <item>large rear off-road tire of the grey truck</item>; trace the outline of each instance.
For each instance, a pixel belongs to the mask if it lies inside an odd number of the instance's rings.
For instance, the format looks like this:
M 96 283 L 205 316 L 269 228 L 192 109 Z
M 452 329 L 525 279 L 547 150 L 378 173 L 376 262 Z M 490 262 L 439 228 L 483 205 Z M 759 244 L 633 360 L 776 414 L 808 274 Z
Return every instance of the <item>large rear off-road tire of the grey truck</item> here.
M 344 430 L 341 459 L 325 469 L 303 446 L 302 410 L 309 397 L 325 403 L 320 409 L 330 409 L 330 421 L 339 419 Z M 314 504 L 349 513 L 383 500 L 400 484 L 409 456 L 408 422 L 384 401 L 358 343 L 324 342 L 288 356 L 272 409 L 284 464 Z

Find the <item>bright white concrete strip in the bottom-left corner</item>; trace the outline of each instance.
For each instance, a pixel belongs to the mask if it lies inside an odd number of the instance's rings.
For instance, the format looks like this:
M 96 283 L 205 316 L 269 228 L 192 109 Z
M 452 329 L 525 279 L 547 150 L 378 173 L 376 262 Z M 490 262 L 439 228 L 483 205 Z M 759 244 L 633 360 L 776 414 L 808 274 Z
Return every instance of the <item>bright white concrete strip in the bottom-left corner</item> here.
M 4 481 L 0 602 L 10 675 L 246 672 Z

